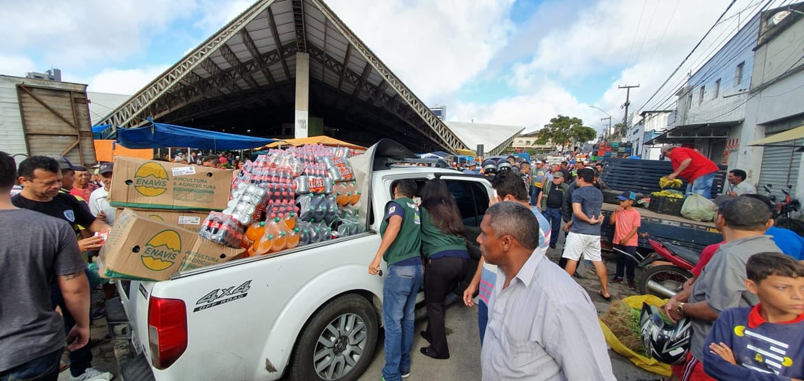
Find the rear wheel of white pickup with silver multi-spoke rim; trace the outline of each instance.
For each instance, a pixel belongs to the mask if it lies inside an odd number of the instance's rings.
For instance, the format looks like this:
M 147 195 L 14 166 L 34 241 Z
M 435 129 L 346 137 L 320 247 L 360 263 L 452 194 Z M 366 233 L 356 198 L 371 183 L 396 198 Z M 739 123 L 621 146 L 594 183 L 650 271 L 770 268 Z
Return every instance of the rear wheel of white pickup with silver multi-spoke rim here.
M 359 295 L 335 298 L 319 309 L 293 348 L 295 380 L 353 381 L 366 371 L 377 345 L 374 306 Z

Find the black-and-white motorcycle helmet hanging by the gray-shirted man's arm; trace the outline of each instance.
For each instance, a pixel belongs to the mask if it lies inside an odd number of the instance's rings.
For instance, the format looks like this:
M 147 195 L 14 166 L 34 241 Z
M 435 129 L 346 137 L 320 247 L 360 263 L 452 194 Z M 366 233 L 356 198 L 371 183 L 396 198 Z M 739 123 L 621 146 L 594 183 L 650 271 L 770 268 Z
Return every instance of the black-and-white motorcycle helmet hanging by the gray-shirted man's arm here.
M 691 321 L 687 317 L 675 325 L 667 323 L 656 307 L 643 302 L 639 332 L 650 357 L 670 365 L 679 365 L 686 360 L 692 337 Z

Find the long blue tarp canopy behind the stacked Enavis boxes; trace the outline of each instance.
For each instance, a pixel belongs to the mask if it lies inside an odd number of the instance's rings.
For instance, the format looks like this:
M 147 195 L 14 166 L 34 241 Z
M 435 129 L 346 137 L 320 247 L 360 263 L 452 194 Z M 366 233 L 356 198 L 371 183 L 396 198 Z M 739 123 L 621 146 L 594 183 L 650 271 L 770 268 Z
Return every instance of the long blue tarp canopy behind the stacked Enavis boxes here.
M 151 122 L 151 125 L 136 129 L 118 128 L 117 141 L 131 149 L 192 147 L 199 150 L 248 150 L 275 140 Z

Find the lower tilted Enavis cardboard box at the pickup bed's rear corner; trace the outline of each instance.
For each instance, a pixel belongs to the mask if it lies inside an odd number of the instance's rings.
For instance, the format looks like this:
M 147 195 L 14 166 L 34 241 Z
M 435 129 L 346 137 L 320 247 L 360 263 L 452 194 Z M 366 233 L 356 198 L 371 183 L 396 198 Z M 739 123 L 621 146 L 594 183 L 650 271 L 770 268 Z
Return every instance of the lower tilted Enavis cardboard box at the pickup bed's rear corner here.
M 100 276 L 165 281 L 174 273 L 232 260 L 242 248 L 228 248 L 198 234 L 126 209 L 100 249 Z

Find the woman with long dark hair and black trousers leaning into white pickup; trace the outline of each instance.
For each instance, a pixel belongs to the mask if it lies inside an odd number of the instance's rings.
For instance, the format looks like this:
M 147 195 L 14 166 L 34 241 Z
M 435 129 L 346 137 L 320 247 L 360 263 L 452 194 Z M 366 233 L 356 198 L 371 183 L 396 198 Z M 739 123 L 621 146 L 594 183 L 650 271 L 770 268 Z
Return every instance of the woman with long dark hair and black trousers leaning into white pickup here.
M 446 183 L 430 180 L 421 192 L 421 251 L 425 262 L 425 305 L 427 330 L 421 337 L 430 346 L 421 353 L 432 358 L 449 358 L 444 326 L 444 297 L 453 292 L 466 276 L 469 251 L 466 249 L 461 212 Z

